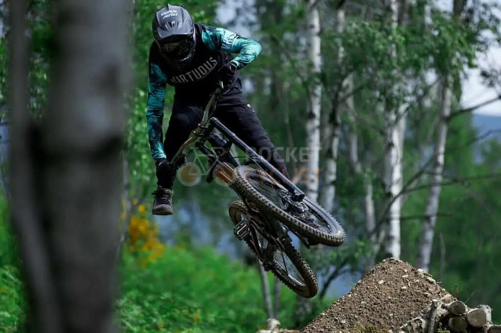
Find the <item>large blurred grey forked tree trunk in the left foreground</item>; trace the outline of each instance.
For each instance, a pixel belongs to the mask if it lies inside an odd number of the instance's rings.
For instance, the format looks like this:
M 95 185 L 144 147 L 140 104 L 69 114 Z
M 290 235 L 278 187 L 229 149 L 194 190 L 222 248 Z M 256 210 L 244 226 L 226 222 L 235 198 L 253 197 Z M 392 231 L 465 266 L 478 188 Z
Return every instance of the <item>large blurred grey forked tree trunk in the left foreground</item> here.
M 31 331 L 110 332 L 120 215 L 127 3 L 55 5 L 49 104 L 27 110 L 26 2 L 11 2 L 12 214 Z

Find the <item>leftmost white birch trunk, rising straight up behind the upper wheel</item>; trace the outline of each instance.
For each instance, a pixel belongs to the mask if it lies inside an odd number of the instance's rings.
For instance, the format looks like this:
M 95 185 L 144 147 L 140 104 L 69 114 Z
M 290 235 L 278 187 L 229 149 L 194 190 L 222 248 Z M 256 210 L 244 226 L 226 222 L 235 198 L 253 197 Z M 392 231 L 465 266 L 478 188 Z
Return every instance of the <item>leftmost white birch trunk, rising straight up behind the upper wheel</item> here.
M 320 53 L 320 17 L 316 0 L 308 0 L 308 59 L 312 65 L 312 75 L 320 73 L 322 66 L 322 56 Z M 322 98 L 322 85 L 317 82 L 317 78 L 309 92 L 309 110 L 306 123 L 307 144 L 309 148 L 308 159 L 308 180 L 306 185 L 306 195 L 313 201 L 318 200 L 319 185 L 319 160 L 320 160 L 320 108 Z

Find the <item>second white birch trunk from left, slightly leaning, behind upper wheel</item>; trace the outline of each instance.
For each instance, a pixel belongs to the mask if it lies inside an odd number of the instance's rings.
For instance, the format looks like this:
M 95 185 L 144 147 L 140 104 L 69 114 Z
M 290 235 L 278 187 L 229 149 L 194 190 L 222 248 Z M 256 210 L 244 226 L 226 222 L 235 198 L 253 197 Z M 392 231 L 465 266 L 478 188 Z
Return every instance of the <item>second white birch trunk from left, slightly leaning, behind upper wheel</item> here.
M 337 22 L 336 22 L 336 30 L 338 34 L 341 34 L 344 31 L 346 25 L 345 19 L 345 7 L 344 2 L 337 9 Z M 344 58 L 344 48 L 341 40 L 338 42 L 338 63 L 341 65 Z M 341 85 L 341 93 L 339 95 L 343 95 L 343 93 L 348 93 L 350 96 L 348 97 L 346 104 L 349 108 L 350 106 L 353 108 L 353 96 L 351 95 L 351 90 L 353 89 L 353 77 L 350 75 Z M 336 100 L 333 101 L 337 103 Z M 336 180 L 337 180 L 337 163 L 338 163 L 338 152 L 339 152 L 339 141 L 341 138 L 341 116 L 344 111 L 345 105 L 338 104 L 332 106 L 332 114 L 329 117 L 329 122 L 327 124 L 326 132 L 330 135 L 328 137 L 329 147 L 327 149 L 327 156 L 325 161 L 325 179 L 324 179 L 324 188 L 322 191 L 322 206 L 325 210 L 332 213 L 334 210 L 334 199 L 336 197 Z

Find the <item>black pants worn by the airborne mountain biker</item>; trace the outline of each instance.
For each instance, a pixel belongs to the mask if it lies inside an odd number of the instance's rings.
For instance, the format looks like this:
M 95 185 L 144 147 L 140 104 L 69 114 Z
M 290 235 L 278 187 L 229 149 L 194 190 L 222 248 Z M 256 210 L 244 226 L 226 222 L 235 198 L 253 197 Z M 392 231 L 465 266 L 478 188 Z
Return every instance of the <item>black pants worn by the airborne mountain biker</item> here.
M 168 161 L 172 159 L 191 131 L 200 123 L 207 101 L 208 97 L 201 100 L 192 99 L 191 101 L 187 98 L 174 98 L 172 114 L 163 143 Z M 212 116 L 217 117 L 243 142 L 259 152 L 284 175 L 287 175 L 284 159 L 268 137 L 256 116 L 256 112 L 245 102 L 239 87 L 235 87 L 221 96 Z M 157 174 L 158 185 L 172 189 L 174 172 L 171 170 L 171 172 Z

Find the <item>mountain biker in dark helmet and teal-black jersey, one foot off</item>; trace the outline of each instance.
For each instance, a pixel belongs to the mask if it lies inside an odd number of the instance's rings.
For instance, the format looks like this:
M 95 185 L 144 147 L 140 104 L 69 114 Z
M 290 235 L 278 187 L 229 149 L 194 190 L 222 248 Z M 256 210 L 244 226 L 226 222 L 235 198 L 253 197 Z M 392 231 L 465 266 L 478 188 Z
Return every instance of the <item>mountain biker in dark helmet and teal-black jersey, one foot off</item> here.
M 214 116 L 287 175 L 284 160 L 254 110 L 245 102 L 238 78 L 238 70 L 259 55 L 261 45 L 222 28 L 196 24 L 181 6 L 167 5 L 156 12 L 152 31 L 155 40 L 149 51 L 146 110 L 151 155 L 158 180 L 158 187 L 153 192 L 152 213 L 172 214 L 172 186 L 176 171 L 169 161 L 200 122 L 210 93 L 219 81 L 224 88 Z M 237 54 L 236 57 L 233 58 L 232 53 Z M 175 95 L 162 143 L 166 84 L 174 86 Z

